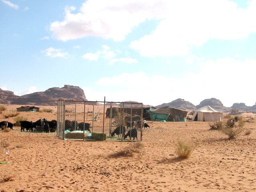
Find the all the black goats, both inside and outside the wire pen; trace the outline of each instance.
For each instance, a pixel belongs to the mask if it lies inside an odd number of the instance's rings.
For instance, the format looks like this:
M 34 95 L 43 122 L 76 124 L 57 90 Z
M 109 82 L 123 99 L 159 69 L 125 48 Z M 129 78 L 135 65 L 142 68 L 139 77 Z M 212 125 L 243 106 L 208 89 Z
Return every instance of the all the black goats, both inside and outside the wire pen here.
M 129 119 L 130 120 L 130 119 Z M 111 132 L 111 136 L 115 136 L 115 134 L 119 137 L 122 135 L 124 139 L 126 139 L 128 136 L 133 138 L 133 140 L 137 138 L 138 132 L 137 130 L 140 130 L 140 128 L 150 128 L 150 126 L 146 123 L 146 120 L 143 121 L 129 121 L 128 119 L 125 119 L 126 126 L 128 128 L 128 132 L 126 133 L 126 127 L 125 126 L 117 126 L 114 131 Z M 142 122 L 142 124 L 141 124 Z M 56 132 L 57 130 L 57 121 L 56 120 L 51 120 L 48 121 L 47 119 L 39 119 L 36 122 L 32 121 L 19 121 L 20 124 L 20 131 L 24 132 L 45 132 L 45 133 L 50 133 L 50 132 Z M 10 128 L 14 130 L 14 126 L 17 126 L 17 123 L 11 123 L 8 121 L 2 121 L 0 122 L 0 129 L 4 130 L 5 128 Z M 74 130 L 80 130 L 80 131 L 88 131 L 91 132 L 90 130 L 90 123 L 84 123 L 80 122 L 78 123 L 77 121 L 73 120 L 65 120 L 65 130 L 69 131 L 74 131 Z

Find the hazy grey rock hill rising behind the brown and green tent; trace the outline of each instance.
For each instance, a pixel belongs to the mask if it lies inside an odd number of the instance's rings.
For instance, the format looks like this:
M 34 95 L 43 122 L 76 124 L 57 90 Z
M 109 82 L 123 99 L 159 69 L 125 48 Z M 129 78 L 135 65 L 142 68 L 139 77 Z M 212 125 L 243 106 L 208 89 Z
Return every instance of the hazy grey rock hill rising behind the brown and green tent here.
M 194 106 L 192 103 L 185 101 L 184 99 L 178 98 L 170 103 L 163 103 L 161 105 L 158 105 L 156 107 L 165 107 L 170 106 L 181 110 L 196 110 L 196 106 Z

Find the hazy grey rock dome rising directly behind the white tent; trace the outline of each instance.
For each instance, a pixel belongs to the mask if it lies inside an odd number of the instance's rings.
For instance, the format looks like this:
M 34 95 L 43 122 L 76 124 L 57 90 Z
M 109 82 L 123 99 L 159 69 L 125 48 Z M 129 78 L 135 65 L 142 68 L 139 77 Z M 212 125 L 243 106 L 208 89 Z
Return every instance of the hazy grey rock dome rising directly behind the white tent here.
M 211 106 L 215 110 L 220 110 L 222 112 L 230 112 L 231 108 L 230 107 L 224 107 L 222 102 L 216 98 L 210 98 L 210 99 L 205 99 L 200 102 L 199 105 L 196 106 L 197 109 L 200 109 L 206 105 Z

